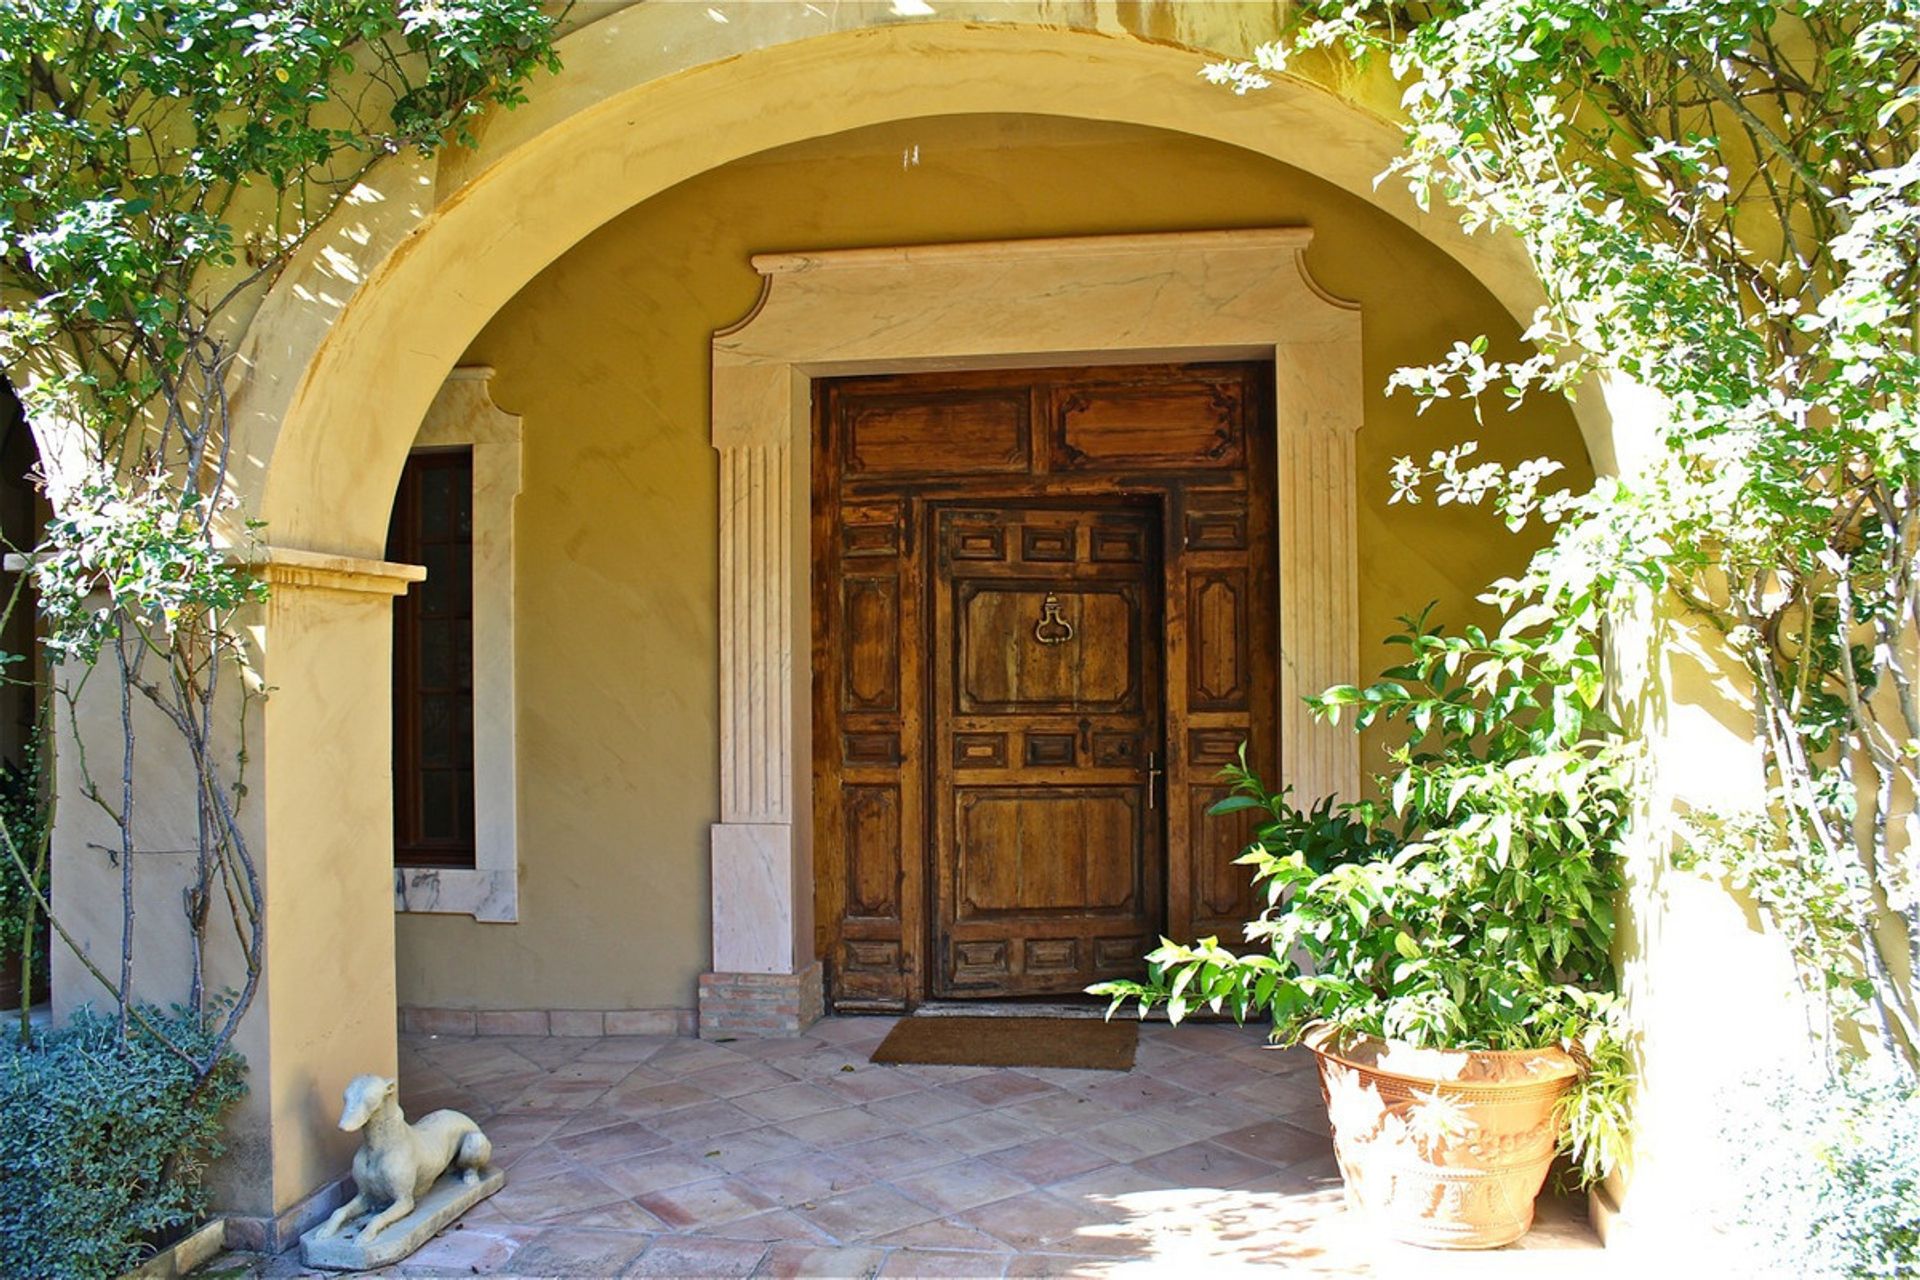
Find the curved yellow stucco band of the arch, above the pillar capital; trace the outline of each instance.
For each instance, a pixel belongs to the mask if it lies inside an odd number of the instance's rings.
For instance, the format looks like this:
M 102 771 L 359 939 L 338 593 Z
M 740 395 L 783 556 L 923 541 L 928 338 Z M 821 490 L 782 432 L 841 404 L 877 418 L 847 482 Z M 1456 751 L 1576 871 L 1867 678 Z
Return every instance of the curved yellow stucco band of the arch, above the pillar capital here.
M 1509 238 L 1469 238 L 1394 184 L 1375 190 L 1400 146 L 1396 125 L 1298 81 L 1233 98 L 1194 75 L 1202 54 L 1188 48 L 958 23 L 716 52 L 668 73 L 659 48 L 637 19 L 574 33 L 561 75 L 490 123 L 455 190 L 436 201 L 430 165 L 390 161 L 276 282 L 248 332 L 236 403 L 242 497 L 275 543 L 378 555 L 388 495 L 447 370 L 597 226 L 707 169 L 866 125 L 1002 111 L 1204 136 L 1380 207 L 1521 320 L 1540 297 Z M 1596 466 L 1609 468 L 1605 411 L 1584 399 L 1576 416 Z

